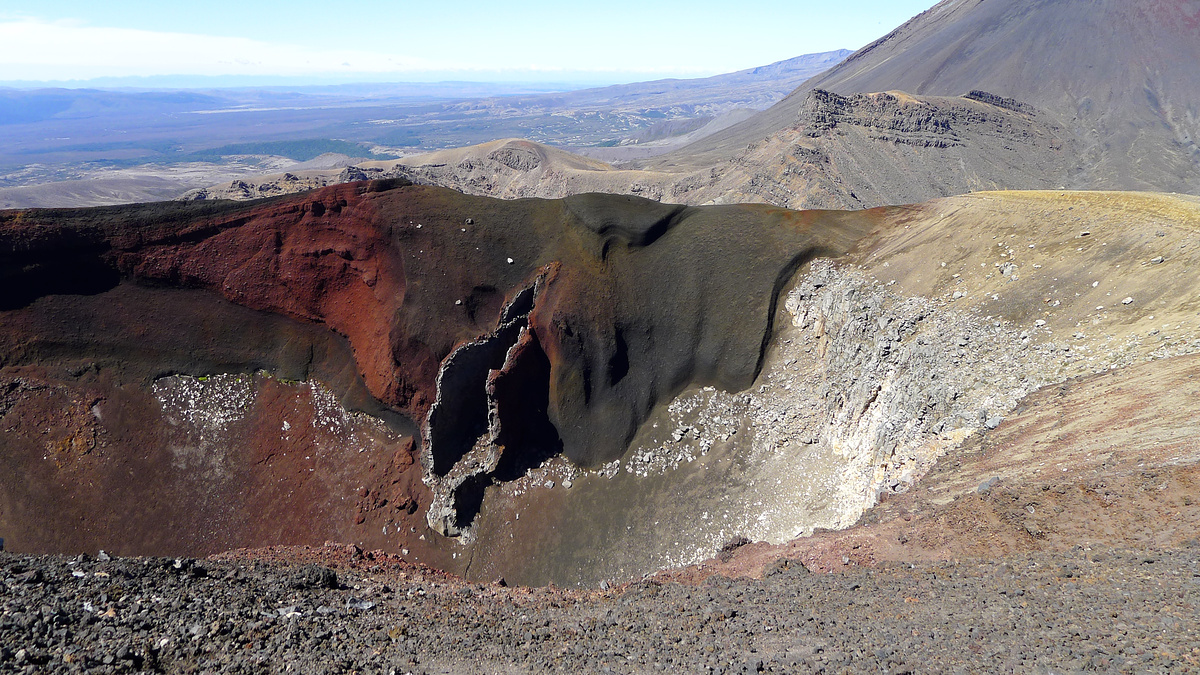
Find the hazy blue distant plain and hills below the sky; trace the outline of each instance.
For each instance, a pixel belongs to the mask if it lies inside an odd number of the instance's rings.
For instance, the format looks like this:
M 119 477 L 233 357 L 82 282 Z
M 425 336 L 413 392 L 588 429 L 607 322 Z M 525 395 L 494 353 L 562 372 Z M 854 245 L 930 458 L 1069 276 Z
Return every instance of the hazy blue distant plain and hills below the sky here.
M 848 53 L 708 78 L 556 92 L 452 82 L 0 89 L 0 208 L 170 198 L 323 153 L 383 160 L 514 136 L 606 160 L 647 157 L 746 119 Z

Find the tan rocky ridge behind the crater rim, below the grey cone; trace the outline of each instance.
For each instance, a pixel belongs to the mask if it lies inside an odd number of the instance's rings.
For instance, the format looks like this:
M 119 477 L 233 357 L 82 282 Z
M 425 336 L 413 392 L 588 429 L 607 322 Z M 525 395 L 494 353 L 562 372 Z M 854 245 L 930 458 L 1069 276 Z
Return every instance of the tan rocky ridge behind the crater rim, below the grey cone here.
M 972 190 L 1045 189 L 1073 181 L 1070 135 L 1031 107 L 983 91 L 961 97 L 809 92 L 787 126 L 712 167 L 616 167 L 520 139 L 350 167 L 338 174 L 264 178 L 257 186 L 193 191 L 187 199 L 246 199 L 365 178 L 403 177 L 499 198 L 580 192 L 680 204 L 769 203 L 854 209 Z

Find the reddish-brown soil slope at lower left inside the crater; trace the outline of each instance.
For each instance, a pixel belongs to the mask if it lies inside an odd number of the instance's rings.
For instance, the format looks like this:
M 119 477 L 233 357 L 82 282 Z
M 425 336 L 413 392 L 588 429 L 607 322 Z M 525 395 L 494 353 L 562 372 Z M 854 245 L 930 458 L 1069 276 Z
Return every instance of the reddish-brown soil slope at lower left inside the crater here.
M 313 386 L 241 377 L 253 396 L 218 430 L 180 424 L 103 370 L 77 384 L 0 380 L 8 548 L 200 555 L 322 538 L 390 548 L 397 531 L 424 527 L 412 437 L 353 418 L 313 424 L 325 404 Z

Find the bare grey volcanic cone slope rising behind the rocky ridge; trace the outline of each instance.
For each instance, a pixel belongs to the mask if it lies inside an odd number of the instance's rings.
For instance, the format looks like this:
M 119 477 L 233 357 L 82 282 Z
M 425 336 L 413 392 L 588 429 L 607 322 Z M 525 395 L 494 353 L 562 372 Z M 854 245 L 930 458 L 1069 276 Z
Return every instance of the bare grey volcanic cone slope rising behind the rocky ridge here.
M 787 129 L 808 94 L 985 90 L 1032 104 L 1080 139 L 1080 187 L 1200 190 L 1200 2 L 946 0 L 770 109 L 649 168 L 730 160 Z

